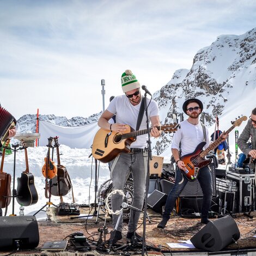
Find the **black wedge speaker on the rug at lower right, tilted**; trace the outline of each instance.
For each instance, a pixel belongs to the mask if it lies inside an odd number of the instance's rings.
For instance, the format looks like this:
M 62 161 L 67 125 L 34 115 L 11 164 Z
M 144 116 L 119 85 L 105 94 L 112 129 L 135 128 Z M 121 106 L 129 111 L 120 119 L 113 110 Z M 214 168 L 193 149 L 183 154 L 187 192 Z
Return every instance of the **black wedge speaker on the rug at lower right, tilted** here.
M 217 252 L 239 237 L 240 231 L 233 218 L 228 215 L 206 224 L 190 241 L 198 249 Z

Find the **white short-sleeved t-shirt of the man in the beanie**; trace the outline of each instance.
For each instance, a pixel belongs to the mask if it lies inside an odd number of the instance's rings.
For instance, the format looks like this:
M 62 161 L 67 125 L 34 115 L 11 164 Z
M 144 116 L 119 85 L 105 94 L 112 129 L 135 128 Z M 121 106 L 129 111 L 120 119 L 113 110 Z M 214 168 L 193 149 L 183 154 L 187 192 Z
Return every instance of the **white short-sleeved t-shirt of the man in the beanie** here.
M 147 105 L 149 101 L 150 100 L 147 98 Z M 111 112 L 112 114 L 115 114 L 116 123 L 130 125 L 135 130 L 140 107 L 141 102 L 139 102 L 138 105 L 133 106 L 130 100 L 126 97 L 126 95 L 121 95 L 114 97 L 114 99 L 109 103 L 107 111 Z M 156 115 L 159 115 L 159 107 L 157 106 L 155 100 L 151 100 L 148 107 L 149 119 Z M 139 127 L 139 130 L 144 129 L 147 129 L 145 112 L 142 118 L 141 126 Z M 147 134 L 137 136 L 136 141 L 131 143 L 131 148 L 147 147 L 147 139 Z

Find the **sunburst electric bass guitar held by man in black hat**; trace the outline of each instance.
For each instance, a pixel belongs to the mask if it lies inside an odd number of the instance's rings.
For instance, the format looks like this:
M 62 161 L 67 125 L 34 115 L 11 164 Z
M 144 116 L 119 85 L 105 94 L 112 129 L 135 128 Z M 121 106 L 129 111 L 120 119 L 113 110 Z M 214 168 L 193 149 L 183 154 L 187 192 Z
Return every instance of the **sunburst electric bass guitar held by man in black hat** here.
M 247 117 L 241 117 L 232 123 L 232 126 L 223 134 L 228 134 L 232 131 L 236 126 L 240 126 L 242 121 L 247 120 Z M 211 150 L 214 150 L 218 145 L 221 144 L 222 137 L 218 137 L 215 142 L 211 143 L 208 148 L 203 150 L 206 142 L 201 142 L 197 145 L 197 148 L 193 153 L 187 154 L 181 157 L 181 161 L 183 161 L 186 165 L 186 170 L 181 170 L 181 173 L 187 178 L 189 181 L 194 181 L 198 178 L 199 170 L 205 166 L 210 164 L 210 160 L 206 160 L 205 157 L 210 153 Z

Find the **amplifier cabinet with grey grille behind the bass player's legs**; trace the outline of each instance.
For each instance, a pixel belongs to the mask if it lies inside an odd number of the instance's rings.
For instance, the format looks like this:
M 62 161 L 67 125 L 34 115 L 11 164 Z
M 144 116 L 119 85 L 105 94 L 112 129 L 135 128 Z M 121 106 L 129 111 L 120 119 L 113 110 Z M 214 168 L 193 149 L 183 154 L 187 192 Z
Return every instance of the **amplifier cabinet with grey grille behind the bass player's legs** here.
M 209 164 L 212 180 L 212 196 L 216 197 L 216 175 L 213 163 Z M 200 175 L 200 172 L 199 172 Z M 186 179 L 186 178 L 184 178 Z M 203 191 L 198 180 L 188 181 L 179 197 L 203 197 Z

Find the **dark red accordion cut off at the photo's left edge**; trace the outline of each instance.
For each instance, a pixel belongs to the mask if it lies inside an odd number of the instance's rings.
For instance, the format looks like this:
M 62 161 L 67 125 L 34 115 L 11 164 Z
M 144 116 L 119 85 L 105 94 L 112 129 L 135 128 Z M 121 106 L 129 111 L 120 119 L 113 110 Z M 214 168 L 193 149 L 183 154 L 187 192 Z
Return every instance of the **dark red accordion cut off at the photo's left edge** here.
M 16 125 L 16 119 L 6 109 L 0 107 L 0 144 L 4 145 L 9 135 L 9 129 Z

